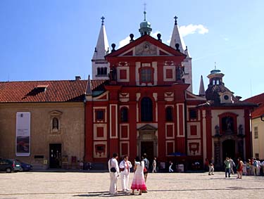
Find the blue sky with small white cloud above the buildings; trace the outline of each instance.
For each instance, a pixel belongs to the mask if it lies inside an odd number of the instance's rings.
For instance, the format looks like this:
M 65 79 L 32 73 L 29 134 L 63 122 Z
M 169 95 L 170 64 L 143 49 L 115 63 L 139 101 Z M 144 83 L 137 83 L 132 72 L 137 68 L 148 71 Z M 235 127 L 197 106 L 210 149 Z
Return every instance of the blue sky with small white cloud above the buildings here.
M 1 0 L 0 81 L 82 79 L 92 76 L 92 56 L 103 15 L 109 45 L 146 19 L 170 40 L 177 15 L 192 57 L 194 94 L 207 89 L 216 67 L 225 86 L 242 99 L 263 93 L 264 1 Z M 184 28 L 185 27 L 185 28 Z

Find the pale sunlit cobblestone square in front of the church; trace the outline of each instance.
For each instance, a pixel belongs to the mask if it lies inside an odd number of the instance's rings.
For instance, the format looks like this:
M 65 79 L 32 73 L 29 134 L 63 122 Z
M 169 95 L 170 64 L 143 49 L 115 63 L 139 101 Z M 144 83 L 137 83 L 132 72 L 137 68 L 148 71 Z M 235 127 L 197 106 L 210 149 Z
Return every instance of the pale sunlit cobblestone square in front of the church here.
M 130 184 L 133 174 L 130 174 Z M 148 193 L 109 195 L 108 172 L 18 172 L 0 173 L 0 198 L 263 198 L 264 177 L 224 172 L 149 173 Z

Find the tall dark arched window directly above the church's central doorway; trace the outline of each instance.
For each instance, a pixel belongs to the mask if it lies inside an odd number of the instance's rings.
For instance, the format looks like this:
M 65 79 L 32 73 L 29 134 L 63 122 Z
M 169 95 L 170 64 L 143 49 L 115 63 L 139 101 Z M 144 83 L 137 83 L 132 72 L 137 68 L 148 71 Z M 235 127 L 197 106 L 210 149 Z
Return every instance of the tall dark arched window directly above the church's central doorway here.
M 141 101 L 141 120 L 142 122 L 153 121 L 153 106 L 151 98 L 144 97 Z

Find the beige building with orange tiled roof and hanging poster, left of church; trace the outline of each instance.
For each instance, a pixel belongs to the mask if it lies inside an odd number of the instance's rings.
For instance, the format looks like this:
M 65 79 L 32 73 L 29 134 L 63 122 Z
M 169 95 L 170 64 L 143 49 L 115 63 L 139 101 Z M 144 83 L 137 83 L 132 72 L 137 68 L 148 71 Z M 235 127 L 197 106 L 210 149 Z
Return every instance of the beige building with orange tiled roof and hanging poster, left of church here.
M 35 169 L 77 167 L 84 158 L 86 84 L 0 82 L 0 158 Z

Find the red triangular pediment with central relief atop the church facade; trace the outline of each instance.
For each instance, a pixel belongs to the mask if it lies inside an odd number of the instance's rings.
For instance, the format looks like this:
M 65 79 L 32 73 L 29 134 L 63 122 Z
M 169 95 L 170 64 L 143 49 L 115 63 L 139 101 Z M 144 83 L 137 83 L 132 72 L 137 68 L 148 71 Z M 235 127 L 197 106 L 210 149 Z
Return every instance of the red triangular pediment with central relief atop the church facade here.
M 122 48 L 112 51 L 106 56 L 121 57 L 121 56 L 186 56 L 180 51 L 173 49 L 167 44 L 155 39 L 149 35 L 144 35 L 138 39 L 131 41 L 130 44 L 123 46 Z

